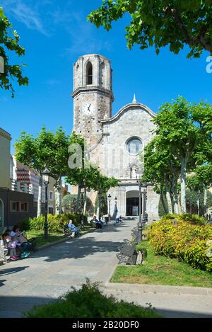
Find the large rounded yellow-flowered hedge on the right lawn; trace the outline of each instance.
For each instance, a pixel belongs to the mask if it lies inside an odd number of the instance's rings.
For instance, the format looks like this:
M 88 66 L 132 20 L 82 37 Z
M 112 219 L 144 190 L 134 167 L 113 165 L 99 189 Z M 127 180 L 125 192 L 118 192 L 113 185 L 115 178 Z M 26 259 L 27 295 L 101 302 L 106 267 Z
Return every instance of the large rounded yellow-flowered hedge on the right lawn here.
M 155 254 L 212 271 L 212 225 L 204 218 L 189 214 L 166 216 L 151 224 L 148 239 Z

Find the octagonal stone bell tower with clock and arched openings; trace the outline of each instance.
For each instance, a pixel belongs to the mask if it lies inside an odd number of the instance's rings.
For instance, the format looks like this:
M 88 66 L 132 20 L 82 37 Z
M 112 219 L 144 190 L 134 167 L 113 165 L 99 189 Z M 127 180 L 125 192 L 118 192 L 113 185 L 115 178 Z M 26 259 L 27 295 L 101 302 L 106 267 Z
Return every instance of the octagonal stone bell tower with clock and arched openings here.
M 102 134 L 101 120 L 111 118 L 112 69 L 102 55 L 83 55 L 73 64 L 73 130 L 92 146 Z

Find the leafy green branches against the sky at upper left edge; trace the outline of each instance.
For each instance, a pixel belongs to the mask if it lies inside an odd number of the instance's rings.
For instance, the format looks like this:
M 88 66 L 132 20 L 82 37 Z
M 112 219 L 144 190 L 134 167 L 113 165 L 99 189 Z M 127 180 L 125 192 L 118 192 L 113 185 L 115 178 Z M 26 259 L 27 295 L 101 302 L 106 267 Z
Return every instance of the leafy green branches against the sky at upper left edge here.
M 8 18 L 4 15 L 3 8 L 0 7 L 0 62 L 3 59 L 4 72 L 0 71 L 0 87 L 11 91 L 14 97 L 13 79 L 20 86 L 28 85 L 28 77 L 23 76 L 23 67 L 25 64 L 11 64 L 9 56 L 15 52 L 18 57 L 25 55 L 25 49 L 19 45 L 20 37 L 16 30 L 13 30 Z M 12 55 L 11 55 L 12 58 Z

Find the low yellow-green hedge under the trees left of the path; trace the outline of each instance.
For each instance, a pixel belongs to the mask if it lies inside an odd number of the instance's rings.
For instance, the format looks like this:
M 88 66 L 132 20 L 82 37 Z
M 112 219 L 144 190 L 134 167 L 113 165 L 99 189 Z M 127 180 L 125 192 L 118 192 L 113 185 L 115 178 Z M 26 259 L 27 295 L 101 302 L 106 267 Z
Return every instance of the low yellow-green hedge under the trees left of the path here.
M 75 226 L 79 226 L 81 224 L 82 217 L 83 216 L 81 214 L 48 214 L 48 230 L 52 233 L 63 233 L 63 226 L 69 223 L 69 219 L 73 220 L 73 224 L 75 224 Z M 86 224 L 88 219 L 85 216 L 83 218 L 84 224 Z M 29 229 L 44 230 L 44 224 L 45 216 L 28 218 L 24 219 L 20 224 L 20 229 L 25 231 Z

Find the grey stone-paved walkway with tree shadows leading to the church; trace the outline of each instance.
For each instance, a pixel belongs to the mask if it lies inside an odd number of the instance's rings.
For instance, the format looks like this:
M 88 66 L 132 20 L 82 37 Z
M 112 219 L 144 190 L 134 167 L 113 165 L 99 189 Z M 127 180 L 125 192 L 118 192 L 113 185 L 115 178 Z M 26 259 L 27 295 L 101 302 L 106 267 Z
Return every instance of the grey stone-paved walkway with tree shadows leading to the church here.
M 105 294 L 137 302 L 145 307 L 151 303 L 167 317 L 212 316 L 212 294 L 176 294 L 169 290 L 143 285 L 108 284 L 117 265 L 116 253 L 123 239 L 131 237 L 136 220 L 122 226 L 109 225 L 102 230 L 68 239 L 61 244 L 37 251 L 30 258 L 0 266 L 0 317 L 20 317 L 35 304 L 49 302 L 80 287 L 86 278 L 102 282 Z M 160 287 L 160 286 L 159 286 Z M 188 287 L 192 290 L 192 287 Z M 172 288 L 174 289 L 174 288 Z

